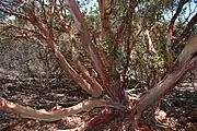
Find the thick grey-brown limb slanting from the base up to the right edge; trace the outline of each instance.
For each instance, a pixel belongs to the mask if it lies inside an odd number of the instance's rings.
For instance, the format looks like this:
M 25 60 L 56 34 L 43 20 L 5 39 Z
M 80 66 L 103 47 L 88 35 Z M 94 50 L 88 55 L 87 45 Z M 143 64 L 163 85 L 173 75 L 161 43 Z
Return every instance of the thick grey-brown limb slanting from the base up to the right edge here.
M 192 61 L 197 53 L 197 36 L 194 36 L 189 39 L 186 47 L 183 49 L 179 55 L 176 63 L 172 68 L 172 71 L 169 72 L 165 78 L 158 83 L 153 88 L 151 88 L 147 94 L 144 94 L 139 103 L 131 109 L 131 115 L 128 117 L 129 120 L 134 120 L 135 116 L 140 116 L 140 114 L 148 107 L 151 106 L 154 102 L 159 100 L 164 95 L 169 94 L 172 88 L 182 80 L 184 74 L 186 74 L 187 64 Z M 128 120 L 126 119 L 126 121 Z

